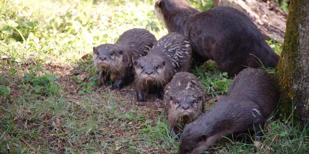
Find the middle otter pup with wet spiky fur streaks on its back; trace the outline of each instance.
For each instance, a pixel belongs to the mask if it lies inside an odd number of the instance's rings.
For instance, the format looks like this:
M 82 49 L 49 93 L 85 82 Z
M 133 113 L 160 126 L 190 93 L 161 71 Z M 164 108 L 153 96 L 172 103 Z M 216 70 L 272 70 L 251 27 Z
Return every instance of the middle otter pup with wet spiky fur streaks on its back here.
M 150 90 L 162 97 L 175 73 L 190 71 L 191 56 L 191 43 L 185 36 L 169 33 L 159 39 L 148 55 L 134 61 L 137 100 L 145 101 Z

